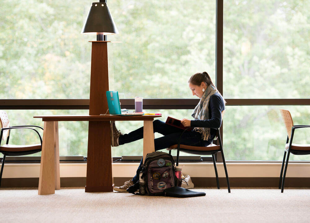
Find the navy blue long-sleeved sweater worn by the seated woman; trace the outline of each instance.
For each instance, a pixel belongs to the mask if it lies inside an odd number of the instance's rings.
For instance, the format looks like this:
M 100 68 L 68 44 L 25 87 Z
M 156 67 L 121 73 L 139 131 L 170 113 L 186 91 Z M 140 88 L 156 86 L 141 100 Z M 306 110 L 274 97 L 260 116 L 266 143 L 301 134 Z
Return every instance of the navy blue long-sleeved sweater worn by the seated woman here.
M 212 143 L 212 140 L 215 136 L 216 130 L 213 128 L 219 128 L 222 124 L 222 111 L 225 110 L 225 104 L 223 98 L 216 92 L 214 95 L 211 96 L 209 101 L 209 119 L 200 120 L 195 119 L 191 120 L 191 126 L 197 127 L 206 127 L 210 129 L 210 138 L 207 140 L 209 145 Z

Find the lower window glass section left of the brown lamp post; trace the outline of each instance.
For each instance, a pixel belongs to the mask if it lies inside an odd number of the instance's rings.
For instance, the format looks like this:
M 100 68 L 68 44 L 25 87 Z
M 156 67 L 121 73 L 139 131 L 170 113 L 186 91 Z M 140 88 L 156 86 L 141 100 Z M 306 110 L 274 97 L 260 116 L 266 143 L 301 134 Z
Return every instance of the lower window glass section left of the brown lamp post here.
M 88 115 L 88 110 L 6 110 L 10 125 L 37 125 L 43 127 L 42 118 L 36 115 L 81 114 Z M 59 155 L 87 157 L 88 123 L 59 122 Z M 37 129 L 41 134 L 43 131 Z M 29 145 L 40 143 L 37 133 L 29 129 L 13 129 L 10 133 L 10 144 Z M 2 140 L 2 145 L 5 141 Z M 2 155 L 2 154 L 1 154 Z M 29 156 L 39 156 L 30 154 Z

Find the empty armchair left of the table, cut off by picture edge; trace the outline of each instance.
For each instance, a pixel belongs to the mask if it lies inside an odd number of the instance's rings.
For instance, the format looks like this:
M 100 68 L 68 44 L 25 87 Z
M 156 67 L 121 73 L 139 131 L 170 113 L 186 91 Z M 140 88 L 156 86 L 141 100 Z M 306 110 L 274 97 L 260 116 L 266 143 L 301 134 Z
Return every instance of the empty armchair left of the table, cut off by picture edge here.
M 39 132 L 33 128 L 29 127 L 38 127 L 43 130 L 40 126 L 35 125 L 23 125 L 23 126 L 11 126 L 7 113 L 5 111 L 0 110 L 0 123 L 1 123 L 1 132 L 0 132 L 0 153 L 3 154 L 2 158 L 2 165 L 1 165 L 1 172 L 0 172 L 0 186 L 1 186 L 1 179 L 2 179 L 2 172 L 5 162 L 6 156 L 22 156 L 28 155 L 33 153 L 38 153 L 42 150 L 42 137 L 40 136 Z M 9 144 L 10 139 L 10 132 L 12 129 L 31 129 L 38 133 L 41 143 L 33 144 L 33 145 L 11 145 Z M 6 144 L 1 146 L 1 141 L 7 140 Z

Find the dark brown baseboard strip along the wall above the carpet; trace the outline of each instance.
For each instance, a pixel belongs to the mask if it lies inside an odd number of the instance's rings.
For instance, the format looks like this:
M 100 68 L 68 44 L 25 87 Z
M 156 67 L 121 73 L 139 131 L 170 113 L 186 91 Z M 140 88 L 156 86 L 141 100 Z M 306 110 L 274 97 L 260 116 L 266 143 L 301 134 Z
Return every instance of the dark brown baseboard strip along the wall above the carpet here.
M 114 184 L 121 186 L 129 177 L 114 177 Z M 192 177 L 196 187 L 216 187 L 215 177 Z M 278 177 L 230 177 L 231 187 L 278 187 Z M 39 178 L 2 178 L 1 188 L 9 187 L 38 187 Z M 84 187 L 86 177 L 61 177 L 61 187 Z M 227 187 L 226 178 L 219 177 L 221 188 Z M 286 177 L 286 187 L 306 187 L 310 188 L 310 177 Z

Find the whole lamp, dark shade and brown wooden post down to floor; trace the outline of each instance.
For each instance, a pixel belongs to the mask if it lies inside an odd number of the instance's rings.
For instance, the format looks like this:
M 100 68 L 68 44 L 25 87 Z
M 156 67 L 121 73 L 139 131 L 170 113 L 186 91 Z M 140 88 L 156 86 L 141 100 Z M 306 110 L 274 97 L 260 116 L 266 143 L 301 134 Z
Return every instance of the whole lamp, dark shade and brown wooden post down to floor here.
M 109 41 L 106 35 L 118 33 L 105 0 L 92 3 L 82 33 L 97 35 L 97 41 L 90 41 L 92 45 L 89 115 L 105 114 L 108 110 L 106 91 L 109 90 Z M 85 192 L 113 191 L 110 122 L 88 123 L 86 176 Z

